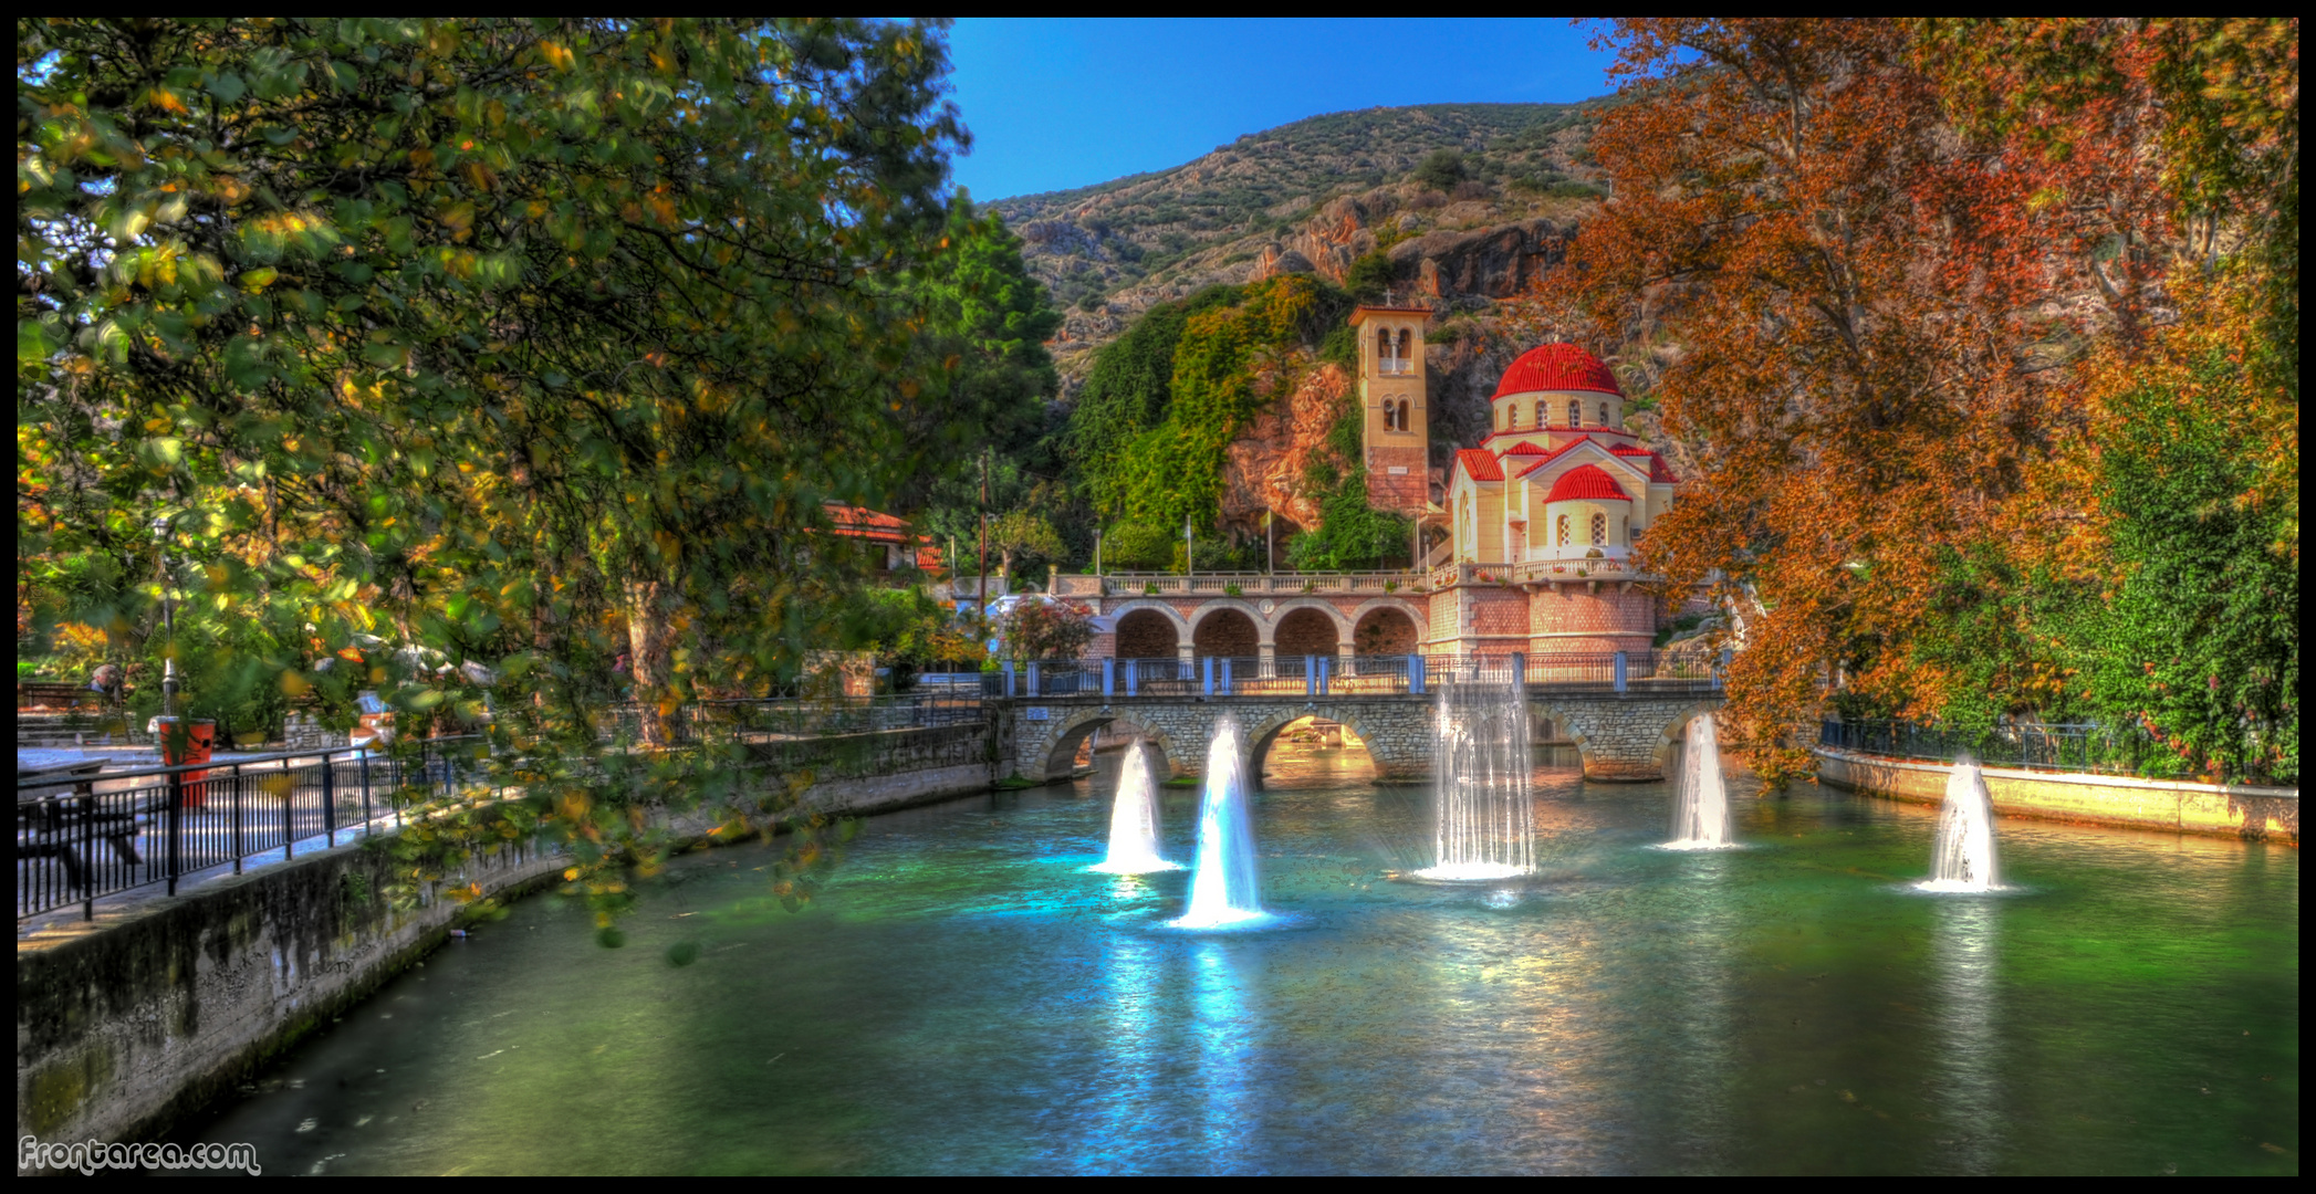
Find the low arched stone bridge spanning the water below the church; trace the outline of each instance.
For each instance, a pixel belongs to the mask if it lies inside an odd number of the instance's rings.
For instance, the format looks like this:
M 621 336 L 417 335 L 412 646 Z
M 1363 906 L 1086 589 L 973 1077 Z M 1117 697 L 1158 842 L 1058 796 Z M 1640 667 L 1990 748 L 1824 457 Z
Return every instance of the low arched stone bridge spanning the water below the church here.
M 1529 717 L 1549 717 L 1575 743 L 1589 780 L 1663 780 L 1681 727 L 1721 708 L 1718 694 L 1529 692 Z M 1278 731 L 1304 717 L 1350 727 L 1366 738 L 1378 782 L 1431 777 L 1434 696 L 1038 696 L 996 701 L 998 768 L 1026 780 L 1068 780 L 1077 750 L 1112 724 L 1130 722 L 1160 752 L 1170 775 L 1207 768 L 1207 743 L 1223 713 L 1239 717 L 1246 775 L 1260 787 L 1262 761 Z

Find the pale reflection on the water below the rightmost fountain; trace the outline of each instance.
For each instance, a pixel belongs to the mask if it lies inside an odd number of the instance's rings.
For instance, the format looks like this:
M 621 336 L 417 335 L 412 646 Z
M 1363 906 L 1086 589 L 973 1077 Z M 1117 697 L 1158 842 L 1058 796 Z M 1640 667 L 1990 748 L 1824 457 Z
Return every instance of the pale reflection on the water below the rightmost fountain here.
M 2003 1155 L 1999 900 L 1936 900 L 1932 981 L 1936 997 L 1932 1104 L 1950 1134 L 1938 1136 L 1948 1164 L 1992 1173 Z

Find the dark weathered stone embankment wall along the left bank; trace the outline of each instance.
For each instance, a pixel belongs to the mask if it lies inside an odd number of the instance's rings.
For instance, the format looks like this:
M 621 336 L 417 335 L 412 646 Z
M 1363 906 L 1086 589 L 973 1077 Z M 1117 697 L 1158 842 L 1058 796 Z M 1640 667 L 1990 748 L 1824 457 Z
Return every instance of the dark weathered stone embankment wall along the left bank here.
M 991 784 L 982 727 L 875 738 L 889 743 L 871 766 L 836 768 L 852 773 L 813 784 L 806 805 L 885 812 Z M 672 828 L 706 840 L 709 826 Z M 445 886 L 505 900 L 565 865 L 510 847 Z M 19 937 L 16 1136 L 153 1138 L 334 1023 L 440 946 L 468 909 L 447 896 L 396 907 L 384 898 L 394 877 L 384 852 L 343 845 Z

